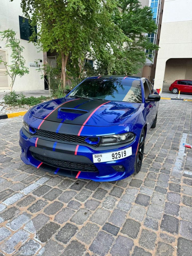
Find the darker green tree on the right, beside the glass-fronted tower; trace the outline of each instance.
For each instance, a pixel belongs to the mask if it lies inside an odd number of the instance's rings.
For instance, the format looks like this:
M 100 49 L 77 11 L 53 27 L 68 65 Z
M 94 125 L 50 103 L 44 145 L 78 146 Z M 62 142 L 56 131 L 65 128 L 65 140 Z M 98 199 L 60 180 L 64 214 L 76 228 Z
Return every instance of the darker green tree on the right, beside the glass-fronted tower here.
M 146 36 L 155 33 L 157 26 L 150 7 L 142 8 L 138 0 L 120 0 L 118 7 L 121 12 L 114 16 L 114 23 L 123 31 L 126 39 L 125 42 L 121 40 L 114 44 L 110 58 L 100 59 L 99 67 L 102 67 L 103 74 L 132 75 L 145 64 L 148 58 L 145 50 L 152 52 L 159 48 Z

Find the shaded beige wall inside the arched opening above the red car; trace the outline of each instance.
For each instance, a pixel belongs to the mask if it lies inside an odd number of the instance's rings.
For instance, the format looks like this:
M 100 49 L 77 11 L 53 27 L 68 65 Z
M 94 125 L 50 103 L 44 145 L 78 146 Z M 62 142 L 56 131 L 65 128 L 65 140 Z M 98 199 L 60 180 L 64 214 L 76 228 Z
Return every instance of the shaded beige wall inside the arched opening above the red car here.
M 166 62 L 163 91 L 169 91 L 169 86 L 177 79 L 192 80 L 192 59 L 169 59 Z

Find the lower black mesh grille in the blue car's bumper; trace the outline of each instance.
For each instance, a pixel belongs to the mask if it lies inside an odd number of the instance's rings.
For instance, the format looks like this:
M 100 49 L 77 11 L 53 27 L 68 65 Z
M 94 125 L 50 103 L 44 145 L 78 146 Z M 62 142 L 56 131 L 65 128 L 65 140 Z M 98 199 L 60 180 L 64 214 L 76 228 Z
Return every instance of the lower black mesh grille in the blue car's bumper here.
M 59 167 L 59 168 L 63 168 L 63 169 L 70 169 L 70 170 L 77 170 L 77 171 L 90 171 L 90 172 L 98 171 L 97 167 L 95 167 L 94 165 L 89 165 L 86 163 L 67 162 L 67 161 L 58 160 L 58 159 L 54 159 L 54 158 L 48 158 L 43 155 L 36 154 L 34 152 L 31 152 L 31 154 L 35 159 L 37 159 L 47 165 L 51 165 L 51 166 L 54 166 L 57 168 Z

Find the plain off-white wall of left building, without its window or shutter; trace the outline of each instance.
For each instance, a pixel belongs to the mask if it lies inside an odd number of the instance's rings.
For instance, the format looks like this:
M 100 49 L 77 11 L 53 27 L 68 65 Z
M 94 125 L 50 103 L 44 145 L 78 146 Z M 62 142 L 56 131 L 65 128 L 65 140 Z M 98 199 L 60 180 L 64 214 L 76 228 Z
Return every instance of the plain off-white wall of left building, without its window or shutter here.
M 23 50 L 23 57 L 26 61 L 26 67 L 29 68 L 29 74 L 24 75 L 23 77 L 17 77 L 13 86 L 15 91 L 28 91 L 28 90 L 42 90 L 44 89 L 44 81 L 41 79 L 40 74 L 35 67 L 29 67 L 30 62 L 34 62 L 35 59 L 43 60 L 43 52 L 38 52 L 38 49 L 34 46 L 32 42 L 20 39 L 20 30 L 19 30 L 19 15 L 23 16 L 22 9 L 20 7 L 20 0 L 14 0 L 10 2 L 8 0 L 0 0 L 0 31 L 6 29 L 13 29 L 17 32 L 16 37 L 21 41 L 21 45 L 25 47 Z M 0 46 L 2 49 L 5 48 L 5 41 L 1 41 Z M 11 64 L 11 50 L 7 50 L 7 57 L 9 65 Z M 40 65 L 43 62 L 39 62 Z M 4 89 L 4 88 L 1 88 Z

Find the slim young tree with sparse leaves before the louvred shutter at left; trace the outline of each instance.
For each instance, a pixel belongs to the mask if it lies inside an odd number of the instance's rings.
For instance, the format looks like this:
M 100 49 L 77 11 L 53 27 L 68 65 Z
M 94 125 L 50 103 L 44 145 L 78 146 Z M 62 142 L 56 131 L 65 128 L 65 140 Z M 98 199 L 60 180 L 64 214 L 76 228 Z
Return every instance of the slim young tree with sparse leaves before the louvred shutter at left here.
M 23 46 L 20 45 L 20 40 L 15 38 L 15 31 L 12 29 L 7 29 L 0 31 L 0 35 L 3 39 L 6 39 L 6 48 L 11 48 L 11 65 L 8 65 L 6 61 L 4 61 L 0 56 L 0 63 L 3 63 L 6 68 L 6 73 L 9 75 L 11 79 L 10 90 L 13 90 L 13 85 L 15 82 L 15 78 L 18 75 L 22 77 L 25 74 L 29 74 L 28 67 L 25 67 L 25 59 L 22 56 L 22 52 L 25 49 Z

